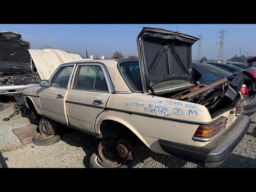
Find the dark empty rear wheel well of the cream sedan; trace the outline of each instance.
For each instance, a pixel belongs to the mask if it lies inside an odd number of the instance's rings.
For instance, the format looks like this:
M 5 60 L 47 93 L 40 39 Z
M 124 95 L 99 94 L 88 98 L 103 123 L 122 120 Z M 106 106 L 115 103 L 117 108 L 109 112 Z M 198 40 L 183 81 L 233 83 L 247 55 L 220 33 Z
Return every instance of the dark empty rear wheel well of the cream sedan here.
M 128 127 L 113 120 L 104 120 L 100 125 L 102 138 L 125 138 L 129 141 L 140 140 Z

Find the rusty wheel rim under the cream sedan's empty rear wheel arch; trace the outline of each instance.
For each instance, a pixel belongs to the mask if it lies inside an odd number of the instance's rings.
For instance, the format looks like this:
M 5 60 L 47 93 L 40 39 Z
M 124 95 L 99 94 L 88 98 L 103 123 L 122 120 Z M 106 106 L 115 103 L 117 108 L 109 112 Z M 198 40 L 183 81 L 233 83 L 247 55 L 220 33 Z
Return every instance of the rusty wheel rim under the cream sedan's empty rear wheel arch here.
M 98 163 L 104 167 L 118 167 L 125 163 L 126 159 L 120 157 L 116 150 L 117 141 L 112 138 L 103 139 L 99 144 Z

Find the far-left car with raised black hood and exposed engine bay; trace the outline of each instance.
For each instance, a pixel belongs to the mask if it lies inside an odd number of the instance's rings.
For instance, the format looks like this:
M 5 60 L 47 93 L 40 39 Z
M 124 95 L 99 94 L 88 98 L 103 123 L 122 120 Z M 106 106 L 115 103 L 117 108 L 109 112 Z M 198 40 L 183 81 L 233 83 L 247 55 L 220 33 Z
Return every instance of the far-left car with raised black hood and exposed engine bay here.
M 20 34 L 0 32 L 0 95 L 21 94 L 26 88 L 39 86 L 29 46 Z

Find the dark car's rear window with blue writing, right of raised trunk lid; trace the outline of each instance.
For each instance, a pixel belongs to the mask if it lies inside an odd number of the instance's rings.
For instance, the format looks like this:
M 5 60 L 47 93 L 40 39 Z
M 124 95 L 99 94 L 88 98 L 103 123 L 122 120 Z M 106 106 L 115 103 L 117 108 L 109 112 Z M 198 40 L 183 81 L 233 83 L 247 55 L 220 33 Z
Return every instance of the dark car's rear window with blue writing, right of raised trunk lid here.
M 204 85 L 214 83 L 231 75 L 231 73 L 207 63 L 193 63 L 193 70 L 195 81 Z

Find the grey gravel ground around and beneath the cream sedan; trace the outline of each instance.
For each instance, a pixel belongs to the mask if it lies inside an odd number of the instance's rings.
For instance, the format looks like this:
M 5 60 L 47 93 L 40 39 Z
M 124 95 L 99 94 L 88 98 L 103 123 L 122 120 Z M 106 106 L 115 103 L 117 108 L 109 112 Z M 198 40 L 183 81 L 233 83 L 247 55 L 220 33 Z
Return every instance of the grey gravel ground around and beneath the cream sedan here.
M 0 112 L 0 121 L 12 112 L 13 108 L 5 108 Z M 61 126 L 60 142 L 51 146 L 36 146 L 34 143 L 22 146 L 12 129 L 36 123 L 29 116 L 22 116 L 0 123 L 0 159 L 4 167 L 88 167 L 99 139 Z M 256 115 L 251 119 L 247 134 L 220 167 L 256 167 Z M 174 156 L 154 153 L 142 143 L 134 147 L 133 157 L 133 167 L 201 167 Z

